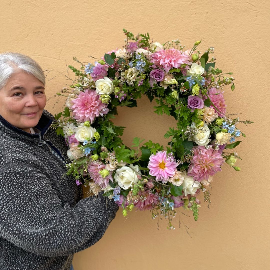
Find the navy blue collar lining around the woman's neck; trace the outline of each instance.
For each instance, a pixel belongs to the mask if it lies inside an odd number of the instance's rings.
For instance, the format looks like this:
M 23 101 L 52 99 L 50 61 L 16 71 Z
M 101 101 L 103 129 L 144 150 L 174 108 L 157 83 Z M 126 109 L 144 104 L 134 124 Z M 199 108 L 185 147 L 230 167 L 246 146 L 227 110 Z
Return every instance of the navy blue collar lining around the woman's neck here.
M 42 114 L 42 116 L 39 119 L 38 124 L 35 126 L 35 128 L 37 128 L 38 130 L 40 130 L 40 134 L 44 135 L 44 133 L 46 132 L 46 130 L 48 129 L 48 127 L 52 124 L 52 119 L 48 118 L 44 113 Z M 26 137 L 29 138 L 38 138 L 39 135 L 38 133 L 28 133 L 22 129 L 18 129 L 17 127 L 13 126 L 11 123 L 9 123 L 8 121 L 6 121 L 6 119 L 4 119 L 1 115 L 0 115 L 0 122 L 3 124 L 3 126 L 7 127 L 8 129 L 15 131 L 16 133 L 22 134 Z

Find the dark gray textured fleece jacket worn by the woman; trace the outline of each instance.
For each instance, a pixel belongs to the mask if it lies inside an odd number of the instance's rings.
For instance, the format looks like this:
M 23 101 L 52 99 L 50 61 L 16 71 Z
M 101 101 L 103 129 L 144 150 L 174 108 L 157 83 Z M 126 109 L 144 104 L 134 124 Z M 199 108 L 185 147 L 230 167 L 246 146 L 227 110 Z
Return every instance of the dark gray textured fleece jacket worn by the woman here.
M 112 200 L 83 199 L 82 187 L 62 177 L 67 148 L 52 121 L 44 110 L 40 133 L 31 134 L 0 116 L 1 270 L 69 270 L 73 254 L 95 244 L 116 215 Z

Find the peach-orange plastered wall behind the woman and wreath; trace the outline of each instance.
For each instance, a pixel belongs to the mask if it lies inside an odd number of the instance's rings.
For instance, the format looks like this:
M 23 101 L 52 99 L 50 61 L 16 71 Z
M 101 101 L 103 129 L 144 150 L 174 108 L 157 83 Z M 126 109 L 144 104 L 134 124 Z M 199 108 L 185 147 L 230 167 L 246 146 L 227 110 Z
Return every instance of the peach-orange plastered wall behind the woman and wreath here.
M 0 0 L 0 6 L 0 52 L 24 53 L 46 70 L 52 113 L 63 108 L 54 95 L 69 84 L 72 57 L 88 62 L 121 48 L 124 27 L 161 43 L 179 38 L 187 48 L 202 39 L 202 52 L 214 46 L 216 66 L 235 77 L 235 91 L 225 91 L 228 113 L 255 122 L 241 126 L 247 134 L 237 147 L 241 172 L 224 166 L 214 177 L 210 211 L 202 202 L 197 222 L 178 210 L 180 229 L 168 231 L 160 220 L 157 230 L 150 212 L 124 218 L 119 211 L 97 244 L 75 254 L 75 270 L 270 269 L 269 1 Z M 152 106 L 142 98 L 137 108 L 119 109 L 115 123 L 126 126 L 124 143 L 138 136 L 166 144 L 163 135 L 175 122 Z

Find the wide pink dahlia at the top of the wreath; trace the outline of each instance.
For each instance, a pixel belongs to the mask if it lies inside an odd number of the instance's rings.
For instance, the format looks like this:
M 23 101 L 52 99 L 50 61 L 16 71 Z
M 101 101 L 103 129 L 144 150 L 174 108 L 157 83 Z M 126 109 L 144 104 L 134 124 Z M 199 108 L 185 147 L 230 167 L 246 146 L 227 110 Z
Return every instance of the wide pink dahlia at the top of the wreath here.
M 190 56 L 180 50 L 171 48 L 158 50 L 151 55 L 151 63 L 169 72 L 171 68 L 180 68 L 181 64 L 191 65 Z

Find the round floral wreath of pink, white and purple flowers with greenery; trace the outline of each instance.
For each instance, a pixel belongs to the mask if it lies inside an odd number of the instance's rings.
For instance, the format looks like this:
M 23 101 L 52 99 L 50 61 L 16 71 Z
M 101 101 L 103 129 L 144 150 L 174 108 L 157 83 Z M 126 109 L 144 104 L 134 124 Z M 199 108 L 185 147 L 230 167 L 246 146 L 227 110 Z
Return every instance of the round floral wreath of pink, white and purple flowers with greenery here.
M 175 208 L 193 211 L 198 219 L 200 192 L 210 204 L 212 176 L 224 163 L 236 171 L 236 152 L 230 152 L 242 134 L 240 121 L 226 114 L 223 86 L 234 78 L 215 68 L 214 48 L 203 55 L 197 50 L 201 41 L 190 50 L 180 41 L 161 45 L 149 34 L 126 35 L 122 49 L 105 53 L 94 64 L 69 68 L 76 81 L 58 95 L 67 97 L 65 110 L 55 115 L 57 133 L 69 145 L 68 175 L 77 185 L 89 185 L 91 195 L 103 192 L 123 207 L 123 215 L 134 207 L 151 210 L 152 218 L 168 218 L 174 229 Z M 169 139 L 164 149 L 151 140 L 136 137 L 129 148 L 122 143 L 124 127 L 115 126 L 118 106 L 137 106 L 136 100 L 146 95 L 156 101 L 155 113 L 173 116 L 177 127 L 164 135 Z M 231 114 L 234 116 L 235 114 Z

